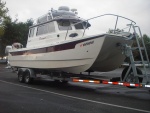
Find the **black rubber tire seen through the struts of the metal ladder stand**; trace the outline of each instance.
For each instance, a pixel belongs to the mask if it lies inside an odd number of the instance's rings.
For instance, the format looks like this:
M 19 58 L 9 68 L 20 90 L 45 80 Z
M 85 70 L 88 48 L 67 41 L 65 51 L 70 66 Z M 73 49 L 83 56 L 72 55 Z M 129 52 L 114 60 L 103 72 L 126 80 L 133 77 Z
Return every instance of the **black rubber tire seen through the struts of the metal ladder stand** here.
M 127 71 L 128 71 L 128 68 L 129 68 L 129 66 L 128 66 L 128 67 L 125 67 L 124 70 L 122 71 L 122 75 L 121 75 L 121 80 L 122 80 L 122 81 L 123 81 L 123 79 L 124 79 L 124 77 L 125 77 L 125 75 L 126 75 L 126 73 L 127 73 Z M 139 68 L 136 68 L 136 70 L 137 70 L 137 74 L 142 75 L 142 71 L 141 71 Z M 132 73 L 132 69 L 129 71 L 128 76 L 129 76 L 131 73 Z M 133 78 L 133 79 L 134 79 L 134 78 Z M 135 78 L 135 79 L 136 79 L 136 78 Z M 137 83 L 141 83 L 142 80 L 143 80 L 143 78 L 141 78 L 141 77 L 138 77 L 137 79 L 138 79 L 138 82 L 137 82 Z M 126 79 L 125 82 L 129 82 L 128 79 Z M 136 88 L 136 87 L 134 87 L 134 86 L 127 86 L 127 87 L 128 87 L 128 88 Z

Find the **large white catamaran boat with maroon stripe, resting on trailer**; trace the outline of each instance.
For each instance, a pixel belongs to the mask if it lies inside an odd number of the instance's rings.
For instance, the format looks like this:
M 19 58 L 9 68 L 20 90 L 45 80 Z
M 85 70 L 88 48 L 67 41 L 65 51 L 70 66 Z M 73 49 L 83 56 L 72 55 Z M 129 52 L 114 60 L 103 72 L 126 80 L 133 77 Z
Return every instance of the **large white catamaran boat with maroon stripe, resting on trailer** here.
M 29 28 L 26 47 L 15 44 L 9 49 L 10 65 L 77 74 L 84 71 L 107 72 L 118 68 L 126 58 L 121 45 L 132 45 L 134 34 L 130 33 L 130 29 L 135 22 L 114 14 L 85 20 L 78 17 L 76 12 L 63 6 L 38 18 L 36 24 Z M 92 33 L 98 33 L 88 35 L 93 27 L 90 21 L 104 16 L 116 17 L 114 29 L 100 33 L 101 29 L 97 27 L 99 29 Z M 128 32 L 117 28 L 119 18 L 130 22 Z

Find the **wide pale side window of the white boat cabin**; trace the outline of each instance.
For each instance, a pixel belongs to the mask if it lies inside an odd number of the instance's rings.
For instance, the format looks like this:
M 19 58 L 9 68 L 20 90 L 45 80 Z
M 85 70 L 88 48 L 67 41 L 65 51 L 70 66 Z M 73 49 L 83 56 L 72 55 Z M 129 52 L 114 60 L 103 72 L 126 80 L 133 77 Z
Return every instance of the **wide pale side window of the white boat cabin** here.
M 43 35 L 47 33 L 55 32 L 54 22 L 42 24 L 37 28 L 36 35 Z

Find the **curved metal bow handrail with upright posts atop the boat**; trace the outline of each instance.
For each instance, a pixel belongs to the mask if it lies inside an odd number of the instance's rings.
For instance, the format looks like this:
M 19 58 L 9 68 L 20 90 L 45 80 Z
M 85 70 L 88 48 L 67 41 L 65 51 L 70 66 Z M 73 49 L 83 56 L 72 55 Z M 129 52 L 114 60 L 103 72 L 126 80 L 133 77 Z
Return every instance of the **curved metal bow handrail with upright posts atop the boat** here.
M 131 20 L 131 19 L 129 19 L 129 18 L 126 18 L 126 17 L 123 17 L 123 16 L 120 16 L 120 15 L 116 15 L 116 14 L 103 14 L 103 15 L 99 15 L 99 16 L 95 16 L 95 17 L 89 18 L 89 19 L 87 19 L 87 20 L 83 20 L 83 21 L 77 22 L 77 23 L 75 23 L 75 24 L 71 24 L 70 26 L 68 26 L 68 28 L 71 27 L 71 26 L 75 26 L 75 25 L 77 25 L 77 24 L 79 24 L 79 23 L 88 22 L 89 20 L 92 20 L 92 19 L 95 19 L 95 18 L 99 18 L 99 17 L 103 17 L 103 16 L 116 16 L 116 17 L 117 17 L 117 19 L 116 19 L 116 24 L 115 24 L 115 29 L 114 29 L 114 33 L 115 33 L 116 28 L 117 28 L 117 23 L 118 23 L 118 19 L 119 19 L 119 18 L 123 18 L 123 19 L 129 20 L 129 21 L 131 22 L 131 24 L 129 25 L 129 26 L 130 26 L 129 32 L 130 32 L 131 26 L 136 24 L 136 22 L 134 22 L 133 20 Z M 69 29 L 68 29 L 68 30 L 69 30 Z M 67 35 L 68 35 L 68 30 L 67 30 L 67 33 L 66 33 L 65 40 L 66 40 Z M 85 30 L 86 30 L 86 29 L 84 29 L 83 36 L 84 36 Z M 82 37 L 83 37 L 83 36 L 82 36 Z

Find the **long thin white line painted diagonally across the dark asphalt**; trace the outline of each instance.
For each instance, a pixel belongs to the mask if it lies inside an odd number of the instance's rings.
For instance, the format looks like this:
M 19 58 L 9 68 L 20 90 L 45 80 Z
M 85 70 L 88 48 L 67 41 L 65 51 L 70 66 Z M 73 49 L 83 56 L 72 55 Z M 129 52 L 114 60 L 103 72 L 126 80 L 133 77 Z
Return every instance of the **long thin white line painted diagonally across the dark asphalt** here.
M 15 86 L 20 86 L 20 87 L 24 87 L 24 88 L 28 88 L 28 89 L 33 89 L 33 90 L 37 90 L 37 91 L 41 91 L 41 92 L 45 92 L 45 93 L 50 93 L 50 94 L 55 94 L 55 95 L 64 96 L 64 97 L 68 97 L 68 98 L 73 98 L 73 99 L 77 99 L 77 100 L 87 101 L 87 102 L 91 102 L 91 103 L 97 103 L 97 104 L 102 104 L 102 105 L 107 105 L 107 106 L 112 106 L 112 107 L 118 107 L 118 108 L 123 108 L 123 109 L 128 109 L 128 110 L 150 113 L 150 111 L 147 111 L 147 110 L 136 109 L 136 108 L 126 107 L 126 106 L 121 106 L 121 105 L 109 104 L 109 103 L 105 103 L 105 102 L 99 102 L 99 101 L 69 96 L 69 95 L 60 94 L 60 93 L 56 93 L 56 92 L 52 92 L 52 91 L 47 91 L 47 90 L 42 90 L 42 89 L 24 86 L 24 85 L 20 85 L 20 84 L 15 84 L 15 83 L 3 81 L 3 80 L 0 80 L 0 82 L 15 85 Z

